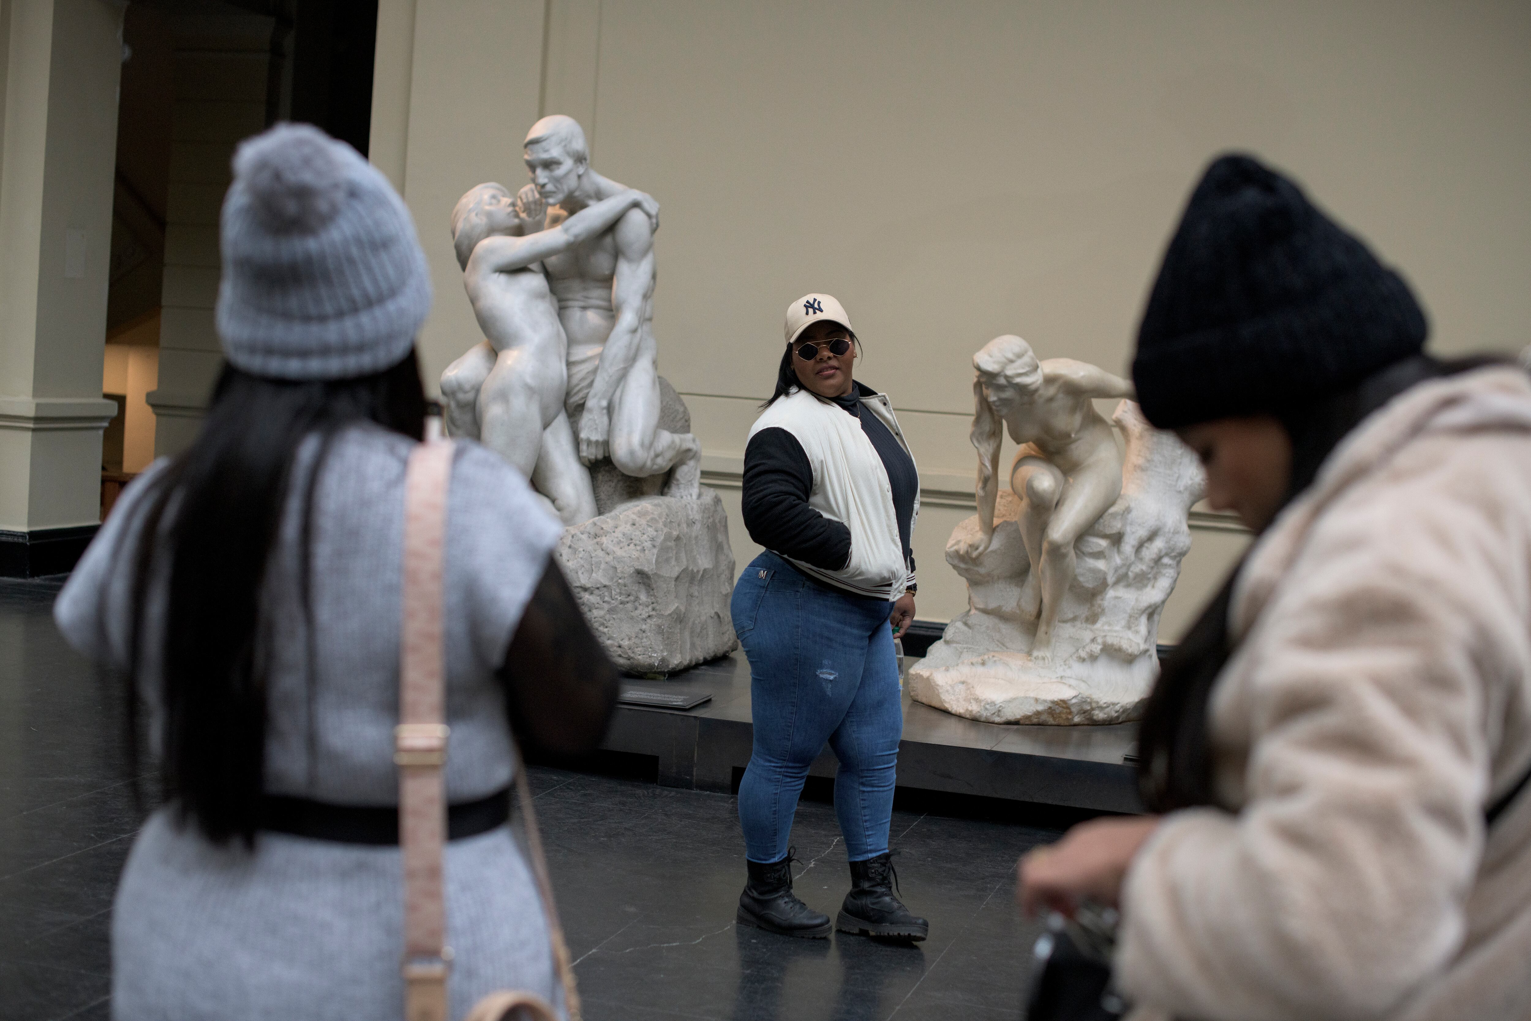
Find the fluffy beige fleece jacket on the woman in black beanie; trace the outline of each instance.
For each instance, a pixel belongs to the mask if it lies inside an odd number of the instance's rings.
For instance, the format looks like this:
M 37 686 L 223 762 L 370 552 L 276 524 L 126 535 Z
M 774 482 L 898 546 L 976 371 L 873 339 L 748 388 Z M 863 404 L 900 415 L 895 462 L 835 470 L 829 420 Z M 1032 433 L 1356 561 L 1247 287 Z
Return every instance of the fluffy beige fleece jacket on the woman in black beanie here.
M 1531 1018 L 1531 378 L 1416 386 L 1251 551 L 1209 706 L 1229 811 L 1122 891 L 1133 1021 Z

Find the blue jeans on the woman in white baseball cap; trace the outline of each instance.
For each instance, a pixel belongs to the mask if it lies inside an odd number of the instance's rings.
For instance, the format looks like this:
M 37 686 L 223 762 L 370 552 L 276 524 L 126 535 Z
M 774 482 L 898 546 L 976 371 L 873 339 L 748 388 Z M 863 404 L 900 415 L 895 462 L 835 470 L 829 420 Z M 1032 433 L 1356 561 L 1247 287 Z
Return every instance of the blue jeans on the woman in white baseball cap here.
M 739 784 L 752 862 L 787 856 L 808 765 L 830 742 L 841 761 L 834 814 L 850 860 L 888 850 L 903 733 L 893 603 L 810 582 L 762 553 L 733 586 L 733 629 L 750 661 L 755 749 Z

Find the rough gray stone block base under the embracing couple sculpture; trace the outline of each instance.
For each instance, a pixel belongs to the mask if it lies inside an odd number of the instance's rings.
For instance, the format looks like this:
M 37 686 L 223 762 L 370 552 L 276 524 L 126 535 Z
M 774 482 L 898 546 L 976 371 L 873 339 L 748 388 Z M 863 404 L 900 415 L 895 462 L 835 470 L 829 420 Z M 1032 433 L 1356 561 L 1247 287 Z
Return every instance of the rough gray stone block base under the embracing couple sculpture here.
M 690 432 L 690 413 L 660 378 L 660 429 Z M 634 479 L 591 465 L 596 507 L 568 528 L 557 557 L 591 629 L 629 674 L 672 674 L 739 648 L 729 599 L 733 550 L 723 501 L 661 496 L 668 475 Z

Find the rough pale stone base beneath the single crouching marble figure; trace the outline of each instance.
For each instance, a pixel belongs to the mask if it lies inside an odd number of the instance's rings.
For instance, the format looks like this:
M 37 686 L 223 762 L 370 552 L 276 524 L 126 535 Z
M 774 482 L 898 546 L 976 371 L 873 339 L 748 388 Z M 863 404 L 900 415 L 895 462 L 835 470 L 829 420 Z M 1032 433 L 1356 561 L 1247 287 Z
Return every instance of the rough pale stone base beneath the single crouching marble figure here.
M 968 580 L 968 609 L 909 669 L 916 701 L 984 723 L 1108 724 L 1138 719 L 1159 669 L 1159 614 L 1191 548 L 1187 514 L 1202 496 L 1194 455 L 1138 406 L 1113 415 L 1127 439 L 1122 494 L 1075 543 L 1076 576 L 1050 663 L 1030 657 L 1036 579 L 1021 543 L 1021 501 L 1001 491 L 994 542 L 961 556 L 978 516 L 957 525 L 946 562 Z M 1024 611 L 1024 612 L 1023 612 Z

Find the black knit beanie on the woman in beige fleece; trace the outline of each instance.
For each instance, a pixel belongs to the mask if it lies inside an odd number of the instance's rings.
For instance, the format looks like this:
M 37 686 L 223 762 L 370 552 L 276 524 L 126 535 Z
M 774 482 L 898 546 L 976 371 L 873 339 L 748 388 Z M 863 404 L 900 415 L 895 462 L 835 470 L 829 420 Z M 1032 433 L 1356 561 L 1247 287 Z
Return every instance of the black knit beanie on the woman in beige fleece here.
M 1159 429 L 1258 415 L 1415 355 L 1427 332 L 1409 285 L 1295 184 L 1220 156 L 1164 254 L 1133 383 Z

